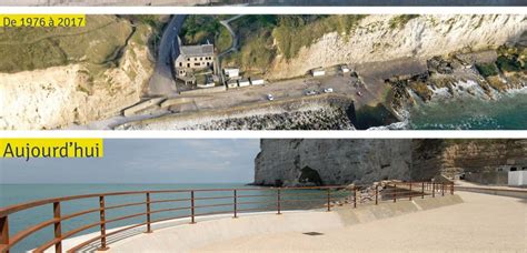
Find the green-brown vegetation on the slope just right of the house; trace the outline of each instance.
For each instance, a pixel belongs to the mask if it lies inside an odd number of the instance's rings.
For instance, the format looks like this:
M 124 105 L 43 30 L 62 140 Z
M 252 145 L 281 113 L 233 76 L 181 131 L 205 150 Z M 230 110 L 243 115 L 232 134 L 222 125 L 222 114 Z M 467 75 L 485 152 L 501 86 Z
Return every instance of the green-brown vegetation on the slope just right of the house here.
M 231 22 L 240 39 L 239 52 L 223 63 L 240 65 L 245 71 L 264 73 L 277 57 L 295 58 L 324 34 L 349 34 L 366 16 L 245 16 Z

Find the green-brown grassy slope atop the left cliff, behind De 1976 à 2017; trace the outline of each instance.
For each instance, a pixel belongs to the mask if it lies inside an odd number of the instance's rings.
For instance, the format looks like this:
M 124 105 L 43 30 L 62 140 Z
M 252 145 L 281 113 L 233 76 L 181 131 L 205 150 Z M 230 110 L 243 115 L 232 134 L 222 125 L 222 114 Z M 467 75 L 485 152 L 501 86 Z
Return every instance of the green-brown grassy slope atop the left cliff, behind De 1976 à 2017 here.
M 0 28 L 0 72 L 71 63 L 110 68 L 129 41 L 147 44 L 150 26 L 159 24 L 151 17 L 87 16 L 83 28 Z

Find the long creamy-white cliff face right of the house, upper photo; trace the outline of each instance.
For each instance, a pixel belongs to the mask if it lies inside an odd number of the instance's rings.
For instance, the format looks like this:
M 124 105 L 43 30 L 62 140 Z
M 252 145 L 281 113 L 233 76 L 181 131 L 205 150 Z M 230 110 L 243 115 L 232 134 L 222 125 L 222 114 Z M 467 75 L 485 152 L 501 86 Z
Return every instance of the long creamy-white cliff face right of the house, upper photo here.
M 318 67 L 400 58 L 428 59 L 460 50 L 484 50 L 515 42 L 527 30 L 525 16 L 419 16 L 396 23 L 397 16 L 368 16 L 349 34 L 327 33 L 294 59 L 278 55 L 268 79 L 304 75 Z M 299 38 L 300 39 L 300 38 Z

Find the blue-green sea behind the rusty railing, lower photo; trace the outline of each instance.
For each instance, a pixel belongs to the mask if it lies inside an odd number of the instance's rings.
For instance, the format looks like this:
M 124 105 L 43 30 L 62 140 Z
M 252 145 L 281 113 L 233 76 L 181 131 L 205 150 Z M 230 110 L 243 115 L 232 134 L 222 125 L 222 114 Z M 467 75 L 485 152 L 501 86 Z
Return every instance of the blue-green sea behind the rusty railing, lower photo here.
M 258 186 L 247 186 L 242 183 L 232 184 L 0 184 L 0 206 L 6 208 L 12 204 L 19 204 L 29 201 L 36 201 L 41 199 L 67 196 L 67 195 L 79 195 L 79 194 L 91 194 L 91 193 L 105 193 L 105 192 L 126 192 L 126 191 L 147 191 L 147 190 L 178 190 L 178 189 L 255 189 L 255 191 L 239 192 L 238 195 L 247 195 L 238 199 L 238 209 L 258 209 L 261 211 L 276 211 L 276 195 L 275 191 L 266 191 L 266 189 Z M 261 189 L 261 190 L 258 190 Z M 308 193 L 308 194 L 306 194 Z M 195 198 L 212 198 L 212 196 L 232 196 L 232 191 L 223 192 L 196 192 Z M 250 196 L 250 195 L 267 195 L 267 196 Z M 189 193 L 163 193 L 152 194 L 151 201 L 155 200 L 168 200 L 168 199 L 189 199 Z M 325 203 L 326 192 L 317 190 L 302 190 L 300 194 L 298 191 L 287 191 L 282 193 L 281 199 L 282 210 L 298 210 L 298 209 L 312 209 L 320 208 Z M 299 202 L 287 202 L 286 200 L 302 200 Z M 146 200 L 145 194 L 139 195 L 126 195 L 126 196 L 108 196 L 106 198 L 106 205 L 117 205 L 132 202 L 143 202 Z M 267 203 L 248 203 L 243 202 L 267 202 Z M 196 214 L 203 214 L 210 212 L 232 212 L 233 206 L 231 205 L 232 199 L 222 200 L 197 200 L 195 205 L 210 205 L 210 204 L 225 204 L 216 208 L 197 208 Z M 152 211 L 159 209 L 173 209 L 173 208 L 186 208 L 189 206 L 189 201 L 170 202 L 170 203 L 155 203 L 151 205 Z M 61 203 L 61 213 L 70 214 L 79 211 L 99 208 L 98 198 L 88 200 L 76 200 Z M 123 209 L 109 210 L 106 213 L 106 219 L 111 220 L 123 215 L 130 215 L 136 213 L 142 213 L 146 211 L 145 205 L 130 206 Z M 241 212 L 241 211 L 240 211 Z M 247 211 L 249 212 L 249 211 Z M 165 213 L 152 214 L 152 220 L 183 216 L 189 215 L 190 210 L 178 210 Z M 52 204 L 43 205 L 41 208 L 22 211 L 9 216 L 10 235 L 21 231 L 31 225 L 36 225 L 40 222 L 51 219 L 53 215 Z M 74 227 L 80 227 L 90 223 L 99 221 L 99 213 L 90 213 L 79 217 L 67 220 L 62 223 L 62 233 L 71 231 Z M 146 216 L 132 217 L 123 221 L 117 221 L 109 223 L 107 229 L 131 225 L 142 223 L 146 221 Z M 97 226 L 98 227 L 98 226 Z M 98 229 L 90 229 L 81 232 L 77 235 L 92 233 Z M 19 243 L 11 252 L 22 252 L 41 245 L 42 243 L 52 240 L 53 229 L 52 225 L 42 229 L 40 232 L 27 237 Z

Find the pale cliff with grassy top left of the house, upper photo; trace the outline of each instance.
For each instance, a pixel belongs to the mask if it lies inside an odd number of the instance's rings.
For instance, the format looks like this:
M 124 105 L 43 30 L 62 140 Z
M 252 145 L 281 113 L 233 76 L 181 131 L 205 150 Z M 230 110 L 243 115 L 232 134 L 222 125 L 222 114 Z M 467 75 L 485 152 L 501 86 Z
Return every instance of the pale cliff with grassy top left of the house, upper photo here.
M 109 21 L 97 27 L 98 20 Z M 116 115 L 140 100 L 153 69 L 145 45 L 152 30 L 143 24 L 132 28 L 130 22 L 110 16 L 89 16 L 87 23 L 86 34 L 71 36 L 68 30 L 53 38 L 60 42 L 53 50 L 42 44 L 2 45 L 3 51 L 11 49 L 14 59 L 27 58 L 21 60 L 27 67 L 44 62 L 34 70 L 20 67 L 0 73 L 0 130 L 86 124 Z M 28 33 L 20 30 L 18 36 Z M 39 50 L 41 54 L 34 52 Z M 66 63 L 51 64 L 48 61 L 56 57 L 46 51 L 63 51 Z M 17 65 L 6 61 L 6 69 Z

